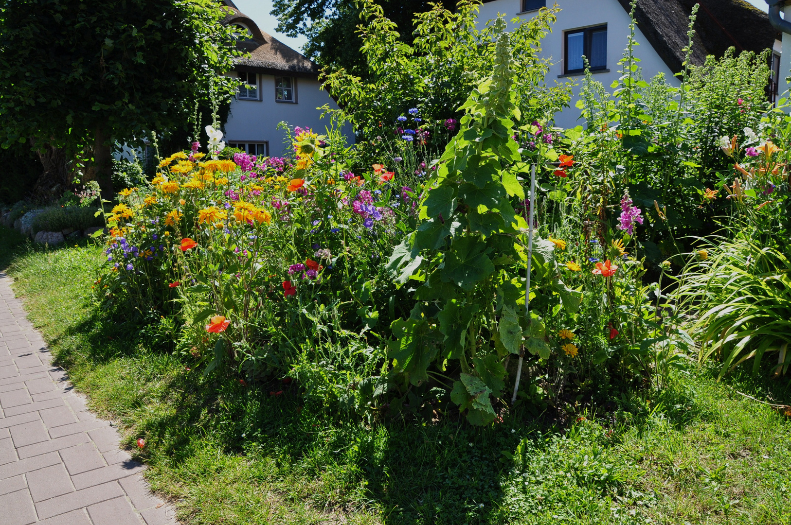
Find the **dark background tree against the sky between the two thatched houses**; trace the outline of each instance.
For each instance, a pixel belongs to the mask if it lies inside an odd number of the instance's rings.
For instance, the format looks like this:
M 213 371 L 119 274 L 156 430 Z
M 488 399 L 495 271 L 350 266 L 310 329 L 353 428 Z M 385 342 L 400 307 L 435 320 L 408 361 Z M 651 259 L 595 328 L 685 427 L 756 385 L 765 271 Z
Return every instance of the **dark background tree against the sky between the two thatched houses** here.
M 415 13 L 432 9 L 427 0 L 380 0 L 385 17 L 399 28 L 409 28 Z M 278 17 L 278 31 L 288 36 L 304 34 L 308 43 L 303 52 L 328 70 L 343 69 L 360 77 L 368 76 L 363 40 L 357 32 L 363 9 L 355 0 L 274 0 L 272 14 Z M 411 31 L 399 40 L 412 43 Z

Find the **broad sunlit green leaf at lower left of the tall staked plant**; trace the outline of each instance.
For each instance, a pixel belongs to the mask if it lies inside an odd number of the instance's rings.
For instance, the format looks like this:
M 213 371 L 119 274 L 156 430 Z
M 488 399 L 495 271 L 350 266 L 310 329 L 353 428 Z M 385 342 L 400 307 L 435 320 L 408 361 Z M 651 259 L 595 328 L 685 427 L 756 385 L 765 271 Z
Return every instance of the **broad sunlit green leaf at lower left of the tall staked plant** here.
M 412 384 L 429 380 L 426 368 L 437 356 L 437 335 L 426 319 L 395 319 L 390 325 L 395 336 L 388 341 L 388 359 L 395 372 L 402 372 Z

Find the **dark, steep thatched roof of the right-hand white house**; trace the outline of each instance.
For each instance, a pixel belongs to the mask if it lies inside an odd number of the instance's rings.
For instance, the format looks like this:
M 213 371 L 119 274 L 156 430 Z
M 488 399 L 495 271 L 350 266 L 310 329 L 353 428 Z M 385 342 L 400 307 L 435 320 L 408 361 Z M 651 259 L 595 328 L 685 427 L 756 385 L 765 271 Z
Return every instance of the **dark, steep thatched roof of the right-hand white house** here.
M 630 0 L 618 1 L 629 12 Z M 692 64 L 701 65 L 707 55 L 721 57 L 729 47 L 760 53 L 782 38 L 769 15 L 744 0 L 638 0 L 638 27 L 674 73 L 682 69 L 688 17 L 696 3 Z

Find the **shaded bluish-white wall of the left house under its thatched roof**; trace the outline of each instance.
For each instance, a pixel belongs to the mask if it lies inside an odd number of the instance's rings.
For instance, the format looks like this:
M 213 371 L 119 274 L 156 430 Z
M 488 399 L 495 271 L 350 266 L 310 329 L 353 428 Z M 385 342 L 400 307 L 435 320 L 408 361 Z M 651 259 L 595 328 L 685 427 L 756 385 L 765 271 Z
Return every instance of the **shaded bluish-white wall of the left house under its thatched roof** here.
M 283 140 L 286 138 L 286 132 L 278 129 L 278 123 L 285 121 L 290 127 L 309 127 L 318 134 L 324 134 L 325 127 L 330 127 L 329 116 L 320 118 L 322 111 L 317 108 L 329 104 L 337 109 L 338 104 L 326 91 L 320 90 L 319 81 L 297 77 L 297 104 L 293 104 L 274 100 L 274 75 L 259 74 L 259 79 L 259 100 L 234 99 L 231 103 L 225 124 L 226 143 L 269 142 L 270 155 L 278 157 L 285 153 Z M 343 131 L 348 142 L 354 142 L 350 127 L 344 127 Z

